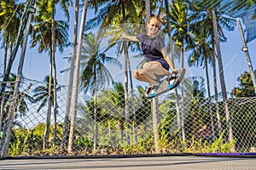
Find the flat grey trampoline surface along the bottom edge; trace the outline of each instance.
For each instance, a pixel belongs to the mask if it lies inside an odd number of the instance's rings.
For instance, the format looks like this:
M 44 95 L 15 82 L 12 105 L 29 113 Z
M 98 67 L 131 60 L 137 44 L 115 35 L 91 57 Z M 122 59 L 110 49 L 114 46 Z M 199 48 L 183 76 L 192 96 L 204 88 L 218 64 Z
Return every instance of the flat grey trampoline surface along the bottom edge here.
M 106 158 L 2 159 L 0 169 L 256 170 L 256 158 L 224 156 L 139 156 Z

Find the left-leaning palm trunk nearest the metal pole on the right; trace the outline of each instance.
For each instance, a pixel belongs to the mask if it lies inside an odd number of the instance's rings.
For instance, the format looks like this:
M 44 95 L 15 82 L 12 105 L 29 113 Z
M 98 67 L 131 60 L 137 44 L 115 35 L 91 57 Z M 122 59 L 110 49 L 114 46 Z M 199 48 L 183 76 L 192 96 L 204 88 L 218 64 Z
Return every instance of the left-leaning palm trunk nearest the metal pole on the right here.
M 218 28 L 217 28 L 217 18 L 215 11 L 212 9 L 212 24 L 213 24 L 213 32 L 214 32 L 214 40 L 216 42 L 216 49 L 218 54 L 218 69 L 219 69 L 219 78 L 220 78 L 220 85 L 222 89 L 222 95 L 223 95 L 223 101 L 224 101 L 224 108 L 226 113 L 226 123 L 227 123 L 227 130 L 229 132 L 229 140 L 230 143 L 234 140 L 233 138 L 233 130 L 232 130 L 232 123 L 231 123 L 231 117 L 230 117 L 230 111 L 229 111 L 229 105 L 228 105 L 228 99 L 227 99 L 227 92 L 226 92 L 226 85 L 224 82 L 224 69 L 222 64 L 222 56 L 220 52 L 220 44 L 219 44 L 219 38 L 218 38 Z M 235 146 L 231 149 L 231 151 L 236 151 Z

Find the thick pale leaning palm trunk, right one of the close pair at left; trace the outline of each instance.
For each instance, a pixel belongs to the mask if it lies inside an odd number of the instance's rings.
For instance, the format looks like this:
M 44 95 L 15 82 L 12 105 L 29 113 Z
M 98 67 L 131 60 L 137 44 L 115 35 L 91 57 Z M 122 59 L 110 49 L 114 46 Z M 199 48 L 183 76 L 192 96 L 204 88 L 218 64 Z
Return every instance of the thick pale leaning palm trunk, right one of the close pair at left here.
M 80 71 L 80 59 L 81 59 L 81 49 L 82 42 L 84 36 L 84 24 L 87 13 L 88 0 L 84 0 L 84 8 L 81 18 L 80 24 L 80 32 L 79 32 L 79 46 L 76 54 L 76 62 L 75 62 L 75 72 L 74 72 L 74 86 L 73 86 L 73 100 L 72 100 L 72 108 L 71 108 L 71 123 L 70 123 L 70 133 L 68 139 L 68 153 L 72 153 L 73 151 L 73 139 L 75 133 L 76 119 L 77 119 L 77 108 L 78 108 L 78 98 L 79 98 L 79 71 Z

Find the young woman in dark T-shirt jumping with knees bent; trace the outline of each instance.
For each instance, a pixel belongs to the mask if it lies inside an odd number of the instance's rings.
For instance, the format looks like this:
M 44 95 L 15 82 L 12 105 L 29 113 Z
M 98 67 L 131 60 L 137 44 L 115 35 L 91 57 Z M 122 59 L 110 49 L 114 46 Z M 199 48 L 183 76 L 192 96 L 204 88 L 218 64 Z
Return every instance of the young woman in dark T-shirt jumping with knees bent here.
M 143 32 L 137 36 L 122 36 L 134 42 L 141 42 L 143 55 L 146 59 L 142 69 L 133 71 L 133 77 L 137 80 L 148 82 L 149 86 L 146 90 L 149 97 L 154 97 L 157 88 L 160 85 L 160 77 L 169 77 L 172 71 L 175 71 L 169 55 L 166 52 L 164 39 L 159 36 L 161 21 L 157 16 L 153 16 L 148 20 L 147 33 Z

